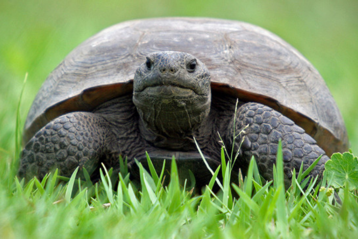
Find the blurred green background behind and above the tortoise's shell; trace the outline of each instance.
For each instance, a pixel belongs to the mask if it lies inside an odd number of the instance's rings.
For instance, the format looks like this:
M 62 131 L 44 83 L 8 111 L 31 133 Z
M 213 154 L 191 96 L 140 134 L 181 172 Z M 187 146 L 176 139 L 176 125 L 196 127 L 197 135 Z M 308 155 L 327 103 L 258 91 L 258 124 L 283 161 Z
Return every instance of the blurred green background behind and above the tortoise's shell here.
M 26 73 L 22 124 L 46 76 L 74 47 L 117 22 L 161 16 L 242 20 L 285 39 L 320 71 L 357 152 L 357 0 L 0 0 L 0 158 L 13 158 L 16 107 Z

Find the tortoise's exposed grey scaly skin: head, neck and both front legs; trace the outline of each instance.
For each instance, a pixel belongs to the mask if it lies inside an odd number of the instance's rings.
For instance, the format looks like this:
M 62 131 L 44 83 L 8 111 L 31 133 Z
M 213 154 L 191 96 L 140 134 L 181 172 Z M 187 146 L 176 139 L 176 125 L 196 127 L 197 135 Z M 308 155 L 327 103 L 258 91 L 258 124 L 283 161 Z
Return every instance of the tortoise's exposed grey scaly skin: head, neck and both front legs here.
M 271 180 L 277 144 L 282 139 L 286 186 L 293 169 L 298 172 L 302 162 L 306 169 L 323 154 L 310 176 L 322 175 L 328 157 L 302 128 L 267 106 L 244 102 L 239 104 L 234 125 L 235 103 L 235 98 L 220 92 L 211 94 L 210 74 L 192 55 L 151 54 L 137 70 L 133 101 L 132 95 L 125 95 L 93 112 L 72 112 L 48 123 L 25 146 L 19 176 L 42 178 L 56 168 L 61 175 L 70 176 L 80 166 L 96 180 L 101 163 L 118 171 L 119 155 L 127 156 L 134 165 L 134 158 L 143 158 L 145 151 L 154 155 L 160 151 L 183 152 L 202 162 L 193 137 L 215 165 L 221 161 L 217 133 L 227 148 L 234 144 L 236 150 L 245 136 L 235 165 L 243 173 L 254 156 L 261 175 Z M 238 133 L 247 125 L 245 133 L 233 141 L 233 129 Z M 196 162 L 185 165 L 194 172 Z M 210 175 L 205 177 L 203 183 L 208 183 Z

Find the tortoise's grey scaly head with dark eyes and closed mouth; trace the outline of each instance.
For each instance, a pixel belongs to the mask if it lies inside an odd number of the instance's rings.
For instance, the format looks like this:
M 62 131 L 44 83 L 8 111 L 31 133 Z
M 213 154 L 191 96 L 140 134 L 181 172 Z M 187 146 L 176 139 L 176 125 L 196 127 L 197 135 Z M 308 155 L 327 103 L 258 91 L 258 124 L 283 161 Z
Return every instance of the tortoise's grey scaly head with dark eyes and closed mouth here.
M 210 111 L 210 73 L 188 53 L 151 53 L 136 70 L 133 88 L 133 102 L 152 137 L 191 136 Z

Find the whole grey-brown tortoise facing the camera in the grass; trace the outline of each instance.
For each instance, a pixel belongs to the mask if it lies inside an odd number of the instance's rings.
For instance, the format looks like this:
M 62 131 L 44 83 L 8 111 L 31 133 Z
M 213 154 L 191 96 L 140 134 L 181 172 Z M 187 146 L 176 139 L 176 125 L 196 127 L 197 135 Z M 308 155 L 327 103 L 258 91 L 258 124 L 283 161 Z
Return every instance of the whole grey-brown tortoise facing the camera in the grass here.
M 19 176 L 79 166 L 96 180 L 122 156 L 138 177 L 134 159 L 147 152 L 159 168 L 174 156 L 180 177 L 190 170 L 202 186 L 211 174 L 193 138 L 211 168 L 224 144 L 239 152 L 235 169 L 254 156 L 267 180 L 281 139 L 287 183 L 323 155 L 310 176 L 321 175 L 348 147 L 324 80 L 276 35 L 231 20 L 144 19 L 92 36 L 48 76 L 25 122 Z

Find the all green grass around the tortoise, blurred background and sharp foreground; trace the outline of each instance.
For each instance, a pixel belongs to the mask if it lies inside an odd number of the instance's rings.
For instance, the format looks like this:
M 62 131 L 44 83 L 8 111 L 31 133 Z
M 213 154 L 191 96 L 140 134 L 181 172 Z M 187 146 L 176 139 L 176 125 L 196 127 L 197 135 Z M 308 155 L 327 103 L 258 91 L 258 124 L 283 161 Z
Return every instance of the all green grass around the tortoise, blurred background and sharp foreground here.
M 120 21 L 160 16 L 243 20 L 284 38 L 325 79 L 355 152 L 357 9 L 356 0 L 0 1 L 0 238 L 355 238 L 356 192 L 341 189 L 342 206 L 332 203 L 329 187 L 318 195 L 319 188 L 306 182 L 313 190 L 301 191 L 300 180 L 293 180 L 286 192 L 280 160 L 275 183 L 263 182 L 252 162 L 238 186 L 230 189 L 224 180 L 220 192 L 213 194 L 210 184 L 201 196 L 178 185 L 175 172 L 168 187 L 160 184 L 160 175 L 145 173 L 141 191 L 129 183 L 125 171 L 118 185 L 108 180 L 111 171 L 105 170 L 96 185 L 74 178 L 57 185 L 56 175 L 24 185 L 15 175 L 24 118 L 50 71 L 96 32 Z M 219 169 L 226 179 L 229 168 L 223 164 Z

